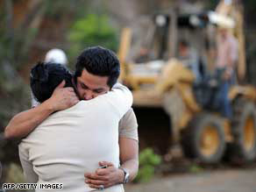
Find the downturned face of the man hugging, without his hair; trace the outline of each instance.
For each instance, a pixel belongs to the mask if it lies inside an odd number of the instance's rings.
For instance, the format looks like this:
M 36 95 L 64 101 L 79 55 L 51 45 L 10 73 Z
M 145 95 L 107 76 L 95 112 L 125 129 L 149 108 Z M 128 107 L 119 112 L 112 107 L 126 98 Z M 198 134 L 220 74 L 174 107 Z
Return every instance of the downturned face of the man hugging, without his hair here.
M 77 77 L 77 91 L 80 99 L 90 100 L 108 92 L 110 90 L 107 84 L 108 79 L 108 76 L 92 75 L 83 69 L 82 75 Z

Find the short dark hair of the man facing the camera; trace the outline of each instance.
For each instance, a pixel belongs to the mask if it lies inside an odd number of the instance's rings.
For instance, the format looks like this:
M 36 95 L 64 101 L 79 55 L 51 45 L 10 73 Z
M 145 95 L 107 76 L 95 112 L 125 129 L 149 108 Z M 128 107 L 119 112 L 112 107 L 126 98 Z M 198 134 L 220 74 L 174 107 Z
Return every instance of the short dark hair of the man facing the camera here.
M 75 80 L 86 69 L 89 74 L 108 76 L 110 88 L 117 82 L 120 75 L 120 63 L 115 53 L 101 46 L 92 46 L 82 51 L 75 64 Z

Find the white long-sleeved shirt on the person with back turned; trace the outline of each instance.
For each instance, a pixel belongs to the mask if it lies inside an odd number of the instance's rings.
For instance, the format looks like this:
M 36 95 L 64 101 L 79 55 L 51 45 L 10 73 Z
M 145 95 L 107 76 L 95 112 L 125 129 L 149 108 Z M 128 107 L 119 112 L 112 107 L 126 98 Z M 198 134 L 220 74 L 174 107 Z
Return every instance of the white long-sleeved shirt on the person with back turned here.
M 84 173 L 95 172 L 102 160 L 119 166 L 118 122 L 131 106 L 131 91 L 118 84 L 107 94 L 55 112 L 19 145 L 26 180 L 63 183 L 63 192 L 93 191 Z M 104 191 L 124 188 L 119 184 Z

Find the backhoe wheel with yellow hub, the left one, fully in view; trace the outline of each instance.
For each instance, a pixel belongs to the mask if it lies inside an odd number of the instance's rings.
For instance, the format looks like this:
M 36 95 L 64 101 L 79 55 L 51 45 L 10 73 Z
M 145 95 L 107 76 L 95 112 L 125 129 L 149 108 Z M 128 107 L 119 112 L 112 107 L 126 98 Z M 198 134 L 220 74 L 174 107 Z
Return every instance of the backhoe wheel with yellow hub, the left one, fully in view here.
M 203 164 L 216 164 L 225 150 L 224 124 L 220 117 L 199 114 L 181 135 L 183 153 Z

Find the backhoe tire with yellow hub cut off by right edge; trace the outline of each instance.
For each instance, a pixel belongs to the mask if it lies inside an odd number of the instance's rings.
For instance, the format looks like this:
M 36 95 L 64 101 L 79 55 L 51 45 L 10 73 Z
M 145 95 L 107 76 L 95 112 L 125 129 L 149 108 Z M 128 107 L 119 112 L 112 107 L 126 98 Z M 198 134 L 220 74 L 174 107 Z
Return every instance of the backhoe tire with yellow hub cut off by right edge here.
M 256 109 L 252 102 L 239 98 L 233 105 L 231 133 L 233 142 L 228 145 L 229 159 L 248 163 L 256 159 Z

